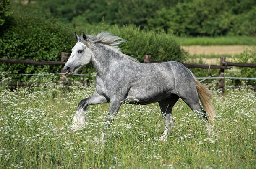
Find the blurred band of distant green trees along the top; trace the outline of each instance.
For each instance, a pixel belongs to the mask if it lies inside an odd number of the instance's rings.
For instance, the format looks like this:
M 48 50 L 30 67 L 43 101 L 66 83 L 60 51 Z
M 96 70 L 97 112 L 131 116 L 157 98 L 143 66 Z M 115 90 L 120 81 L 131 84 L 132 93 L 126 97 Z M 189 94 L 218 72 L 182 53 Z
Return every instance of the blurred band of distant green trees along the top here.
M 128 23 L 177 35 L 256 35 L 255 0 L 36 0 L 65 23 Z

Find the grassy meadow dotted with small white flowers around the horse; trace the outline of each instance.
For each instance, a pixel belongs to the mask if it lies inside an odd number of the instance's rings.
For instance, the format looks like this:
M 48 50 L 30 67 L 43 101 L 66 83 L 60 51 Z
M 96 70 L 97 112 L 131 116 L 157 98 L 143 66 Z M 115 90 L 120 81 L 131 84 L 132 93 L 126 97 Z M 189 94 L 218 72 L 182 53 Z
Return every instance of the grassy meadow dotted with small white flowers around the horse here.
M 47 80 L 45 81 L 47 82 Z M 1 168 L 255 168 L 256 96 L 249 89 L 212 90 L 214 134 L 182 100 L 173 108 L 175 127 L 159 141 L 164 123 L 157 103 L 121 106 L 104 128 L 109 104 L 89 106 L 84 129 L 72 133 L 79 101 L 94 86 L 56 86 L 0 91 Z M 99 143 L 102 131 L 107 143 Z

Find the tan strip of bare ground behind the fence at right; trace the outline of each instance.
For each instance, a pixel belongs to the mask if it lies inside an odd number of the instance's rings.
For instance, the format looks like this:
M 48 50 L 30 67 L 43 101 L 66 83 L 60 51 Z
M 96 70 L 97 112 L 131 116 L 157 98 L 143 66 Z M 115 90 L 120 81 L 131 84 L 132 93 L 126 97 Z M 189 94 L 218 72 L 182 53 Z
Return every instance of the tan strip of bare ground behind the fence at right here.
M 246 48 L 248 50 L 253 50 L 256 46 L 243 46 L 243 45 L 227 45 L 227 46 L 181 46 L 185 51 L 188 51 L 191 55 L 234 55 L 240 54 Z

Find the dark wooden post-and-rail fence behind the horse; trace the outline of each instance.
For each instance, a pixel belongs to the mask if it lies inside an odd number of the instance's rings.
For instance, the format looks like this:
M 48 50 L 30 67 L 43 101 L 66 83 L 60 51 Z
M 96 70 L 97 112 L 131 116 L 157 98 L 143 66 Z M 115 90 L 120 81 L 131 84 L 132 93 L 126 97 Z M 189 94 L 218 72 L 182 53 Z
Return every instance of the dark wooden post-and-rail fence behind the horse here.
M 187 68 L 204 68 L 208 69 L 208 71 L 212 69 L 219 69 L 219 77 L 224 77 L 225 69 L 230 69 L 230 66 L 238 66 L 238 67 L 250 67 L 256 68 L 256 64 L 252 63 L 232 63 L 226 62 L 225 57 L 220 57 L 219 65 L 204 65 L 204 64 L 193 64 L 193 63 L 182 63 Z M 4 63 L 22 63 L 22 64 L 33 64 L 33 65 L 65 65 L 68 61 L 68 53 L 61 53 L 61 61 L 31 61 L 31 60 L 17 60 L 17 59 L 6 59 L 0 58 L 0 62 Z M 144 63 L 160 63 L 161 61 L 152 61 L 150 55 L 144 55 Z M 63 68 L 61 69 L 61 73 L 65 73 Z M 63 76 L 65 78 L 65 75 Z M 62 77 L 62 78 L 63 78 Z M 30 83 L 21 83 L 21 82 L 13 82 L 9 83 L 10 86 L 31 86 Z M 218 89 L 224 90 L 224 78 L 219 79 Z

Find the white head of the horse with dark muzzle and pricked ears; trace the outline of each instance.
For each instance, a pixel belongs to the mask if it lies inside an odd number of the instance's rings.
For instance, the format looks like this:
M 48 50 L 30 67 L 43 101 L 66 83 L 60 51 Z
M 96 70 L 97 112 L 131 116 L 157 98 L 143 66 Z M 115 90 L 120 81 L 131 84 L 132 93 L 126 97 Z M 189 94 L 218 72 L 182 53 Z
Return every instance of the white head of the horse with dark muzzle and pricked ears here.
M 79 37 L 75 33 L 76 45 L 72 48 L 72 53 L 68 58 L 67 63 L 64 66 L 64 71 L 68 74 L 72 74 L 76 72 L 84 65 L 87 65 L 91 61 L 91 50 L 84 45 L 81 41 L 87 41 L 85 33 L 83 33 L 82 37 Z M 83 39 L 81 39 L 83 38 Z

